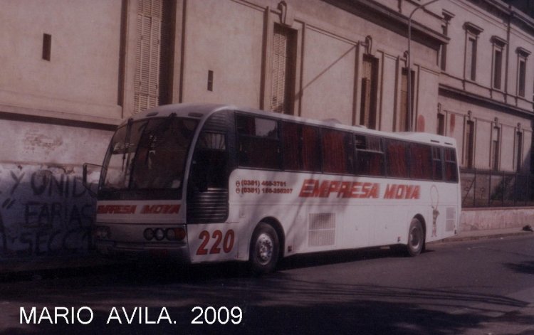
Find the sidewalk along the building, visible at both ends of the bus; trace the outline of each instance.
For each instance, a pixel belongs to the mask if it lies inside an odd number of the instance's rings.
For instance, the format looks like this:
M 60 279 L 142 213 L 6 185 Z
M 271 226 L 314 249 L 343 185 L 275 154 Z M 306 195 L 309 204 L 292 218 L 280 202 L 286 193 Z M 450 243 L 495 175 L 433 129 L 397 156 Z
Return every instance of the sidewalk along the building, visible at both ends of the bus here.
M 451 243 L 467 240 L 481 240 L 486 238 L 504 238 L 508 236 L 534 235 L 533 232 L 525 231 L 521 227 L 505 229 L 487 229 L 463 231 L 458 235 L 445 240 L 433 243 Z M 95 251 L 88 251 L 83 254 L 61 255 L 57 257 L 40 257 L 33 260 L 28 258 L 19 260 L 0 260 L 0 280 L 3 276 L 23 275 L 27 277 L 42 271 L 54 270 L 88 270 L 90 268 L 117 266 L 124 264 L 117 260 L 108 260 L 98 255 Z

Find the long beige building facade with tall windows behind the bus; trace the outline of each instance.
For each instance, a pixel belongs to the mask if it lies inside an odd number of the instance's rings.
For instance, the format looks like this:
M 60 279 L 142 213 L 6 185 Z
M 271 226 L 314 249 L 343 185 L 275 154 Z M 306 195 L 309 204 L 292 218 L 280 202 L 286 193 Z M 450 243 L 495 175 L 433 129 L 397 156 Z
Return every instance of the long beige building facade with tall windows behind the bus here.
M 446 134 L 464 229 L 522 224 L 530 209 L 507 206 L 531 198 L 515 185 L 530 186 L 534 21 L 500 0 L 424 2 L 0 0 L 0 260 L 87 250 L 81 164 L 120 119 L 175 102 Z

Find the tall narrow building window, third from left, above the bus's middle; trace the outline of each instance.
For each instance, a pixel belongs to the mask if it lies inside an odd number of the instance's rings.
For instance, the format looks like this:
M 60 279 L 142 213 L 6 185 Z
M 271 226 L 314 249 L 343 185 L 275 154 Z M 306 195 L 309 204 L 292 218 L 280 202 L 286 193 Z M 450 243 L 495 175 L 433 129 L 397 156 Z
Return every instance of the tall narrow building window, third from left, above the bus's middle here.
M 377 85 L 378 59 L 371 55 L 364 55 L 360 124 L 370 129 L 377 129 Z

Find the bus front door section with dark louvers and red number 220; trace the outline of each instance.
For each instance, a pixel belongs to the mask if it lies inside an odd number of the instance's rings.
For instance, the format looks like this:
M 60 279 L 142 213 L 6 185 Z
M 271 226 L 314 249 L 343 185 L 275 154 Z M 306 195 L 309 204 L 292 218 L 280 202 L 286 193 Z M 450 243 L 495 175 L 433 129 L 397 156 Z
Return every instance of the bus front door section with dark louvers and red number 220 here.
M 237 223 L 229 217 L 231 171 L 229 112 L 206 121 L 194 149 L 187 190 L 187 231 L 192 262 L 233 260 Z

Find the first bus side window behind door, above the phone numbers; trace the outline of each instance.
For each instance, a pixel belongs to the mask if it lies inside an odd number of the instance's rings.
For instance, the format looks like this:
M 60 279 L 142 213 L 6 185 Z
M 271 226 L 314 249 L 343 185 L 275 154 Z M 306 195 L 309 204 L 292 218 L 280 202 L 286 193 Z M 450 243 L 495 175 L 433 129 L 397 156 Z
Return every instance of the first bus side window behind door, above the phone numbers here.
M 278 122 L 273 119 L 236 115 L 239 166 L 280 169 Z

